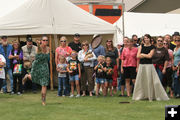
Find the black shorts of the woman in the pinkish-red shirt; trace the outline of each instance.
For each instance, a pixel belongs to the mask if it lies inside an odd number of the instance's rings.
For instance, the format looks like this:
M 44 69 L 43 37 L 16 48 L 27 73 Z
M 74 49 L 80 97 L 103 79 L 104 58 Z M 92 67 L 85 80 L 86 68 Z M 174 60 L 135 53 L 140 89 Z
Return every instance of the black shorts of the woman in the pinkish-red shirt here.
M 123 67 L 125 79 L 136 79 L 136 67 Z

